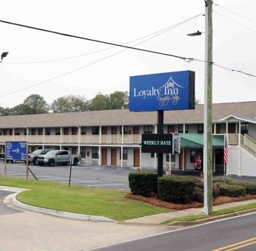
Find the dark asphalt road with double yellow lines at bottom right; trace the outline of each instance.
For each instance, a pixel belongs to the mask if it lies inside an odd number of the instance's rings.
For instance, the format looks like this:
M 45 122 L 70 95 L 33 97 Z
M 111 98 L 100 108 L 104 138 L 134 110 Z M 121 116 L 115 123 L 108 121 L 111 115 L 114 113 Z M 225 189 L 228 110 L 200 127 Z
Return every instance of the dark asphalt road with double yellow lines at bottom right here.
M 227 247 L 229 245 L 233 246 Z M 256 250 L 256 213 L 151 235 L 95 250 Z

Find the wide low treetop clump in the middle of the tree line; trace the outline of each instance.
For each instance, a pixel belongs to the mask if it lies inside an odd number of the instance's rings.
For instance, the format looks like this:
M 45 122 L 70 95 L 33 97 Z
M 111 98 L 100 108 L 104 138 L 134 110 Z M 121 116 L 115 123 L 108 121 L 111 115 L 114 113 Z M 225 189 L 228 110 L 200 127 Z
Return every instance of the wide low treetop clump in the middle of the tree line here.
M 68 95 L 53 101 L 53 112 L 88 111 L 89 101 L 85 97 Z

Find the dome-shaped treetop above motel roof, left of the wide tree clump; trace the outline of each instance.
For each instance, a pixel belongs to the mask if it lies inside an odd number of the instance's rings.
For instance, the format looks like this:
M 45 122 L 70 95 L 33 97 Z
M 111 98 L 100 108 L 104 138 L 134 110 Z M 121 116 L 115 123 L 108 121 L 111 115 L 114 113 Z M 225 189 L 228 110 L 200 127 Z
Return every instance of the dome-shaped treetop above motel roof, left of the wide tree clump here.
M 44 100 L 44 97 L 38 94 L 31 94 L 24 100 L 23 104 L 30 107 L 29 114 L 47 113 L 49 111 L 49 106 Z

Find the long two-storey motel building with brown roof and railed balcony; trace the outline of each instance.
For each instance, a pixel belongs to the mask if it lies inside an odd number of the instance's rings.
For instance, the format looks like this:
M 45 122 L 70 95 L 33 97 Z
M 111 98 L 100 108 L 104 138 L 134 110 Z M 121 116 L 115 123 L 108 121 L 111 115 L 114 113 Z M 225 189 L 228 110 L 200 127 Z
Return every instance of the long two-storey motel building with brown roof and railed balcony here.
M 29 151 L 64 149 L 88 165 L 157 168 L 156 154 L 141 152 L 141 134 L 157 132 L 157 112 L 128 109 L 0 117 L 0 151 L 27 141 Z M 181 134 L 180 154 L 164 154 L 164 170 L 202 171 L 203 105 L 164 111 L 164 133 Z M 213 171 L 256 176 L 256 101 L 212 105 Z M 223 163 L 226 137 L 229 161 Z

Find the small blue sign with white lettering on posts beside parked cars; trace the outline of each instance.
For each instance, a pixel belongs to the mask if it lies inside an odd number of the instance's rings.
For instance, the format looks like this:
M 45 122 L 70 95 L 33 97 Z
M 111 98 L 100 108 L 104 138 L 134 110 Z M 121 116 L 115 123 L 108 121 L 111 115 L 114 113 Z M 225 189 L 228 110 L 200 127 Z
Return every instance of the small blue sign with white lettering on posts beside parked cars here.
M 6 159 L 26 160 L 27 143 L 10 141 L 5 143 Z

